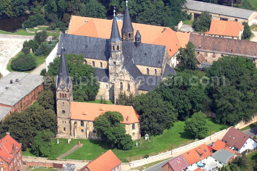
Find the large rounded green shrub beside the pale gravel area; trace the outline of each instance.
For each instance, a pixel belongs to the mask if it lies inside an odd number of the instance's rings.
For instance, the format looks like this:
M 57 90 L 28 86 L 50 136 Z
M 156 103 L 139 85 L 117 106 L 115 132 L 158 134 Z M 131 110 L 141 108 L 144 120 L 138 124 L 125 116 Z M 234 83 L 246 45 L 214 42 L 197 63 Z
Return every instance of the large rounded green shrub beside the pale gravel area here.
M 36 60 L 31 54 L 19 55 L 11 62 L 11 68 L 16 71 L 30 71 L 36 67 Z

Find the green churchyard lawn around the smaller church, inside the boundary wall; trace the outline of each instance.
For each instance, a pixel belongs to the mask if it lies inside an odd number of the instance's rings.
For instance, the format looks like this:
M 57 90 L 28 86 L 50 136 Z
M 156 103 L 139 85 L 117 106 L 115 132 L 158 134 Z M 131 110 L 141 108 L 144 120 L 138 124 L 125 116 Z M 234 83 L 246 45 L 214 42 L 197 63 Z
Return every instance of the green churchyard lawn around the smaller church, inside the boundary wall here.
M 212 128 L 212 134 L 220 131 L 221 125 L 215 123 L 213 118 L 207 118 L 206 123 L 208 127 Z M 64 157 L 65 159 L 92 160 L 98 157 L 102 152 L 112 149 L 115 155 L 123 162 L 127 162 L 129 160 L 129 155 L 131 155 L 132 160 L 137 160 L 143 158 L 145 154 L 153 156 L 161 152 L 169 151 L 171 150 L 171 144 L 173 144 L 172 147 L 175 149 L 194 142 L 195 138 L 184 129 L 184 126 L 185 122 L 178 121 L 174 123 L 174 126 L 170 129 L 164 130 L 162 135 L 150 136 L 150 141 L 145 141 L 144 137 L 142 137 L 142 144 L 139 144 L 139 147 L 136 148 L 136 141 L 134 141 L 133 148 L 128 151 L 112 148 L 108 143 L 99 140 L 72 139 L 70 144 L 68 144 L 67 139 L 59 139 L 60 143 L 57 144 L 57 139 L 52 139 L 52 148 L 49 157 L 55 158 L 55 156 L 58 157 L 64 154 L 78 144 L 78 141 L 80 141 L 80 143 L 83 144 L 83 147 Z M 99 148 L 100 143 L 101 148 Z M 56 154 L 54 150 L 56 150 Z M 33 156 L 31 152 L 31 149 L 28 148 L 23 152 L 23 155 Z

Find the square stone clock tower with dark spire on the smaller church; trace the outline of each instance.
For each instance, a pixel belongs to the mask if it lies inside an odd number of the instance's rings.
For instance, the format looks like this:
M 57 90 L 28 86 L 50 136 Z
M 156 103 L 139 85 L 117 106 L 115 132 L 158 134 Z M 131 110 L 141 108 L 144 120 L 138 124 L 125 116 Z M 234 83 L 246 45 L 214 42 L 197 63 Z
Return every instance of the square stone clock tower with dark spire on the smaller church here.
M 73 101 L 72 80 L 69 75 L 66 58 L 61 51 L 59 71 L 56 82 L 56 108 L 58 134 L 62 138 L 70 137 L 70 103 Z

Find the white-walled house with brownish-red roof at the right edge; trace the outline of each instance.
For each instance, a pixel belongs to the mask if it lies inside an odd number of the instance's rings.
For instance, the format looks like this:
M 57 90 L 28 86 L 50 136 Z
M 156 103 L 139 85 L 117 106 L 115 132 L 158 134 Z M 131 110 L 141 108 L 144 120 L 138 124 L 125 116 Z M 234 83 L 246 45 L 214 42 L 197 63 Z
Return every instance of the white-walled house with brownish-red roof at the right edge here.
M 227 131 L 222 138 L 222 141 L 227 143 L 232 150 L 239 153 L 242 153 L 247 149 L 254 150 L 257 148 L 257 142 L 254 139 L 234 127 L 231 127 Z

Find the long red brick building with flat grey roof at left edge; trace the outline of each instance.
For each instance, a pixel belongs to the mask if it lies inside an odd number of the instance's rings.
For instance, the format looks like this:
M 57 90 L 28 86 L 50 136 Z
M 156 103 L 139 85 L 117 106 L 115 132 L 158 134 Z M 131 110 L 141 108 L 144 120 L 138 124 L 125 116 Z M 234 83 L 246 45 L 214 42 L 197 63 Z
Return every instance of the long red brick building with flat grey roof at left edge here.
M 0 80 L 0 121 L 12 112 L 21 112 L 36 101 L 43 90 L 43 76 L 11 72 Z

